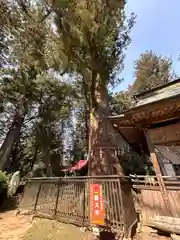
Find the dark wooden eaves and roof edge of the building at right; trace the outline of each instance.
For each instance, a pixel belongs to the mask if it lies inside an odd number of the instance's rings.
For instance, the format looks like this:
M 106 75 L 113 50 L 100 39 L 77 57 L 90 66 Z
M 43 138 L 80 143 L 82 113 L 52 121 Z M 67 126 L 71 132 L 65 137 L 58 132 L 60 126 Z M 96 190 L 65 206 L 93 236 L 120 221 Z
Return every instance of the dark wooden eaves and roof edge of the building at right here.
M 167 92 L 167 96 L 170 96 L 156 100 L 158 91 L 161 91 L 161 95 Z M 143 102 L 143 100 L 146 102 L 149 96 L 153 101 L 141 105 L 137 103 L 136 106 L 131 107 L 120 115 L 109 116 L 114 127 L 118 129 L 137 152 L 141 152 L 142 149 L 144 152 L 148 152 L 144 129 L 180 119 L 180 79 L 138 94 L 136 98 L 139 98 L 139 102 Z

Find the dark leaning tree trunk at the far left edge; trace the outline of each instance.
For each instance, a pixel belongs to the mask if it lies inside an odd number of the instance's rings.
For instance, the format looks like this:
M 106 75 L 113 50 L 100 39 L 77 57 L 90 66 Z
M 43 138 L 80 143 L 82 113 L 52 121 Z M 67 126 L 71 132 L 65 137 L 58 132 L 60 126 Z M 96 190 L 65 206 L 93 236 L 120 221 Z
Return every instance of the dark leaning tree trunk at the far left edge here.
M 23 108 L 23 109 L 22 109 Z M 6 138 L 0 148 L 0 169 L 5 170 L 6 166 L 8 165 L 9 155 L 11 153 L 13 144 L 17 139 L 19 139 L 21 127 L 24 122 L 24 107 L 18 108 L 11 127 L 6 135 Z

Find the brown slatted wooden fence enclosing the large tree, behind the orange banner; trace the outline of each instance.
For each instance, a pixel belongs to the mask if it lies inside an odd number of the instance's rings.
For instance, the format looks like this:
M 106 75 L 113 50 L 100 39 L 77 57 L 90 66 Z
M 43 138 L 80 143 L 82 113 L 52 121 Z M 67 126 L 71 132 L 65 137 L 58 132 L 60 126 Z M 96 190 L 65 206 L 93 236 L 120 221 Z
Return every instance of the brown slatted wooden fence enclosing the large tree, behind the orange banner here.
M 136 222 L 130 178 L 119 176 L 31 178 L 19 210 L 79 226 L 91 226 L 90 187 L 99 184 L 106 230 L 128 233 Z

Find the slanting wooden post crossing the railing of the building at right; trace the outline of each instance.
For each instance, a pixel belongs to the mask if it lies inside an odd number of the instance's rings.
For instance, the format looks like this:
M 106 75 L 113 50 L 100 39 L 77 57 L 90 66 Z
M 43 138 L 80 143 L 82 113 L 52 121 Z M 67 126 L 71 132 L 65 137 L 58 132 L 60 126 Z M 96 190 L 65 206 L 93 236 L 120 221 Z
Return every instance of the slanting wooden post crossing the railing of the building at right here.
M 171 211 L 168 192 L 166 190 L 166 186 L 165 186 L 165 183 L 164 183 L 164 180 L 163 180 L 163 177 L 162 177 L 162 171 L 161 171 L 161 168 L 160 168 L 160 165 L 159 165 L 158 158 L 157 158 L 156 153 L 155 153 L 155 147 L 154 147 L 154 145 L 153 145 L 153 143 L 150 139 L 150 136 L 149 136 L 149 133 L 148 133 L 147 129 L 144 130 L 144 134 L 145 134 L 147 145 L 148 145 L 148 148 L 149 148 L 151 161 L 152 161 L 154 170 L 156 172 L 156 177 L 157 177 L 157 180 L 158 180 L 158 183 L 159 183 L 159 188 L 160 188 L 160 191 L 161 191 L 161 194 L 162 194 L 162 198 L 164 200 L 164 203 L 165 203 L 165 206 L 166 206 L 168 212 L 171 215 L 174 215 Z

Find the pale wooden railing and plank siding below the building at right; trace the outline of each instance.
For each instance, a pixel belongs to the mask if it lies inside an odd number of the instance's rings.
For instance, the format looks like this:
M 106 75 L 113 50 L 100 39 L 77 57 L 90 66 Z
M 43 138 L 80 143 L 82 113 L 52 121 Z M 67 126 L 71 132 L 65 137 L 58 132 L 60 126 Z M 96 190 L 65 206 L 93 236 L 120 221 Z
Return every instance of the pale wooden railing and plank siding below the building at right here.
M 162 230 L 173 228 L 180 233 L 180 177 L 163 176 L 166 195 L 161 192 L 155 176 L 136 176 L 131 181 L 137 193 L 134 201 L 142 224 L 161 225 Z

